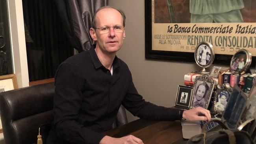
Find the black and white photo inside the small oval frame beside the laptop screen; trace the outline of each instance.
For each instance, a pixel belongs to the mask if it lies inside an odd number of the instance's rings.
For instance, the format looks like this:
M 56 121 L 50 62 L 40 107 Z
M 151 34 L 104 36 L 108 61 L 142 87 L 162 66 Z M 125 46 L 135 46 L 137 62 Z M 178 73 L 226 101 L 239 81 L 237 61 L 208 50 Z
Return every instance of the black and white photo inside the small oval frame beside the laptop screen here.
M 217 92 L 217 98 L 216 98 L 216 109 L 218 111 L 223 112 L 226 108 L 226 105 L 228 103 L 230 93 L 228 90 L 219 90 Z

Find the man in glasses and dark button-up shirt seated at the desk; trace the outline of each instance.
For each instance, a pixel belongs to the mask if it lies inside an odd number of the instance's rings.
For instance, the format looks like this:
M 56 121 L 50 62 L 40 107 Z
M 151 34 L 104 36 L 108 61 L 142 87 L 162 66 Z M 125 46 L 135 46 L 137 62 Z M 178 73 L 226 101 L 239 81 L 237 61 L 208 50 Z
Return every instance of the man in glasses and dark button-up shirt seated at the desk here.
M 140 118 L 152 120 L 209 120 L 210 112 L 160 107 L 145 102 L 134 87 L 128 66 L 116 53 L 125 38 L 125 16 L 113 7 L 102 7 L 93 17 L 90 50 L 61 63 L 55 77 L 54 134 L 61 144 L 143 144 L 132 135 L 113 138 L 111 129 L 120 105 Z M 198 116 L 204 114 L 205 116 Z

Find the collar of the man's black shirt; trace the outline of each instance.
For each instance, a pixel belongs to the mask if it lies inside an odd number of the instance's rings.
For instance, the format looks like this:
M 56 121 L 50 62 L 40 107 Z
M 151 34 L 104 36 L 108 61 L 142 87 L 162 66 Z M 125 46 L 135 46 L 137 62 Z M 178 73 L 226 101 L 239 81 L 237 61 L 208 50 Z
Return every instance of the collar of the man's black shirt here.
M 95 48 L 96 48 L 96 44 L 93 44 L 89 50 L 89 53 L 91 55 L 91 60 L 93 61 L 93 65 L 95 66 L 95 68 L 100 68 L 101 66 L 103 66 L 101 63 L 100 63 L 100 60 L 95 52 Z M 114 61 L 113 61 L 113 70 L 115 70 L 115 68 L 119 67 L 120 66 L 120 60 L 117 56 L 115 56 L 114 58 Z M 104 66 L 103 66 L 104 67 Z

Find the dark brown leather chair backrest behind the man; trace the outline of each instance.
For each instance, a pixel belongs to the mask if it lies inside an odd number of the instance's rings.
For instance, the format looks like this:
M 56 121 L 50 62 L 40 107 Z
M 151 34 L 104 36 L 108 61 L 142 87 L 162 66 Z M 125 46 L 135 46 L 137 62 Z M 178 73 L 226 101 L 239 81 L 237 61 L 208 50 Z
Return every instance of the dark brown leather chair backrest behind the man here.
M 54 83 L 0 93 L 0 115 L 6 144 L 32 144 L 41 124 L 52 123 Z

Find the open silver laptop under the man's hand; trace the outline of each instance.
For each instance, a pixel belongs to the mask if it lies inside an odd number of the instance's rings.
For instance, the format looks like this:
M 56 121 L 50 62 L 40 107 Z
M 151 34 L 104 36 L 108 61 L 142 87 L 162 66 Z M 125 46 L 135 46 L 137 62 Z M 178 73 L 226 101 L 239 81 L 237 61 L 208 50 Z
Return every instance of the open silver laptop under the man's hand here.
M 243 90 L 241 90 L 237 85 L 234 85 L 233 91 L 230 94 L 230 98 L 221 117 L 221 120 L 224 124 L 226 124 L 228 128 L 234 129 L 238 126 L 239 122 L 241 121 L 241 115 L 245 110 L 246 101 L 247 96 L 245 95 Z M 193 137 L 194 135 L 202 133 L 202 123 L 206 123 L 206 121 L 182 120 L 181 126 L 183 138 L 188 139 Z M 210 124 L 208 124 L 206 130 L 209 131 L 215 126 L 217 126 L 217 123 L 211 122 Z

